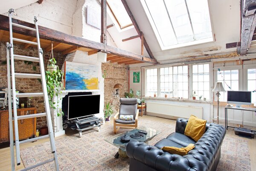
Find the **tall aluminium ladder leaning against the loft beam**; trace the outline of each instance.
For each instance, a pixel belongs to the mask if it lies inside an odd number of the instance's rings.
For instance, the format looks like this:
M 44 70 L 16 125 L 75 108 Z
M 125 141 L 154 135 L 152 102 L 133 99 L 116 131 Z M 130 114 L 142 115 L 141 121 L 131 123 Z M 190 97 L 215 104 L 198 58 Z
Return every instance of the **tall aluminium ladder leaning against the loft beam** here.
M 58 171 L 58 159 L 57 159 L 57 153 L 55 150 L 55 142 L 54 142 L 54 135 L 52 130 L 52 119 L 50 115 L 50 108 L 49 108 L 49 102 L 48 102 L 48 95 L 47 95 L 47 87 L 46 87 L 46 79 L 45 79 L 45 73 L 44 73 L 44 59 L 43 59 L 43 50 L 40 46 L 40 39 L 39 39 L 39 33 L 38 33 L 38 23 L 37 18 L 34 17 L 35 22 L 35 28 L 23 26 L 17 23 L 12 23 L 12 12 L 14 12 L 13 9 L 9 9 L 9 29 L 10 29 L 10 42 L 7 43 L 7 48 L 9 49 L 9 54 L 7 54 L 7 81 L 8 81 L 8 95 L 9 99 L 11 99 L 11 91 L 12 91 L 12 98 L 16 99 L 16 97 L 44 97 L 44 105 L 45 105 L 45 113 L 35 113 L 30 115 L 23 115 L 23 116 L 17 116 L 17 108 L 16 104 L 13 103 L 13 118 L 12 118 L 12 102 L 9 100 L 9 130 L 10 130 L 10 147 L 11 147 L 11 162 L 12 162 L 12 171 L 15 171 L 15 164 L 14 164 L 14 144 L 13 144 L 13 130 L 12 130 L 12 120 L 14 120 L 14 128 L 15 128 L 15 147 L 16 147 L 16 159 L 17 159 L 17 165 L 20 165 L 20 144 L 26 143 L 26 142 L 34 142 L 37 139 L 43 139 L 48 138 L 50 139 L 50 146 L 51 151 L 54 157 L 52 159 L 48 159 L 44 162 L 38 163 L 36 165 L 32 165 L 28 168 L 22 169 L 21 171 L 27 171 L 29 169 L 38 167 L 40 165 L 44 165 L 48 162 L 55 162 L 55 170 Z M 31 31 L 34 31 L 36 34 L 36 42 L 32 41 L 26 41 L 18 38 L 13 38 L 12 35 L 12 26 L 17 26 L 23 29 L 28 29 Z M 23 56 L 23 55 L 15 55 L 13 52 L 13 41 L 23 42 L 23 43 L 29 43 L 33 45 L 38 46 L 38 56 L 37 57 L 29 57 L 29 56 Z M 8 50 L 7 50 L 8 51 Z M 10 67 L 10 58 L 11 58 L 11 67 Z M 32 62 L 39 62 L 40 64 L 40 71 L 41 74 L 28 74 L 28 73 L 15 73 L 15 67 L 14 67 L 14 60 L 23 60 L 23 61 L 32 61 Z M 10 71 L 11 69 L 11 71 Z M 11 87 L 11 78 L 12 78 L 12 87 Z M 16 93 L 15 88 L 15 78 L 41 78 L 42 80 L 42 87 L 43 87 L 43 93 Z M 14 105 L 15 104 L 15 105 Z M 32 139 L 26 139 L 23 141 L 19 141 L 19 133 L 18 133 L 18 122 L 17 120 L 20 119 L 29 119 L 29 118 L 36 118 L 36 117 L 47 117 L 47 125 L 48 125 L 48 135 L 35 137 Z

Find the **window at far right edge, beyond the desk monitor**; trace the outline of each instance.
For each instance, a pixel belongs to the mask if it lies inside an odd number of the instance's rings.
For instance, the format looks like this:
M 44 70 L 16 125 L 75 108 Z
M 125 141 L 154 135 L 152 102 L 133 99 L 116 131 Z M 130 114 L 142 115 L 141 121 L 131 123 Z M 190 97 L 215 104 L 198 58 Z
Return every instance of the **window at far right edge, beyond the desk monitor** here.
M 256 90 L 256 69 L 247 70 L 247 90 L 254 91 Z M 252 92 L 252 103 L 256 103 L 256 92 Z

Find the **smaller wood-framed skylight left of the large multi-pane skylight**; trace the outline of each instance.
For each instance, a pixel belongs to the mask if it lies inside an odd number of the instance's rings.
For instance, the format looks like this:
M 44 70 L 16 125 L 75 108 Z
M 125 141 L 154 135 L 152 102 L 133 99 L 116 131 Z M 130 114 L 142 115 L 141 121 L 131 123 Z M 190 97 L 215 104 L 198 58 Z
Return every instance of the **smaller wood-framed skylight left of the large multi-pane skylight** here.
M 107 0 L 107 4 L 121 29 L 133 25 L 121 0 Z

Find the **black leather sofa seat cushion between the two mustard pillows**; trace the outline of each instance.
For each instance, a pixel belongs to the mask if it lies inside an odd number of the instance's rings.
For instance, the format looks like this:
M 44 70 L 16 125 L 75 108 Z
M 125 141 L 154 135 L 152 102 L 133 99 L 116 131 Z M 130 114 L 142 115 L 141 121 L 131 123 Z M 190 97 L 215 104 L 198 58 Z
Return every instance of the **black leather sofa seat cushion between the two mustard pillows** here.
M 166 139 L 169 139 L 175 143 L 177 143 L 178 145 L 181 145 L 183 147 L 188 146 L 189 144 L 195 144 L 195 140 L 193 140 L 192 138 L 185 136 L 181 133 L 171 133 L 169 136 L 166 137 Z

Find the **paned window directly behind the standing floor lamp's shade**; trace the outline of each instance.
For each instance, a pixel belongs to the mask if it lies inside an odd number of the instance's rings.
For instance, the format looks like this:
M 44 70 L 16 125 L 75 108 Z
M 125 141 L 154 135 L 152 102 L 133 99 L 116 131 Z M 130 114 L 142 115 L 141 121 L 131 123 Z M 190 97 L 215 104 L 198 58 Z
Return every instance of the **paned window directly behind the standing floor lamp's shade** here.
M 217 71 L 217 81 L 222 82 L 223 87 L 226 91 L 231 91 L 231 90 L 238 91 L 239 90 L 239 70 Z M 220 101 L 227 101 L 227 92 L 221 92 Z

